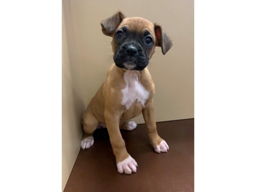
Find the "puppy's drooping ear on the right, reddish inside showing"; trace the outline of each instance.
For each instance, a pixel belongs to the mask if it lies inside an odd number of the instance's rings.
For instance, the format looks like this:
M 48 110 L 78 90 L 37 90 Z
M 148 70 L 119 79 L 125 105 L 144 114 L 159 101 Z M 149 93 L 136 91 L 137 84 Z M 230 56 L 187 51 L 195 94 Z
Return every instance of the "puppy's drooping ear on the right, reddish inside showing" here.
M 163 55 L 165 55 L 171 49 L 173 40 L 163 31 L 162 26 L 158 23 L 154 23 L 154 31 L 157 38 L 156 46 L 161 47 Z

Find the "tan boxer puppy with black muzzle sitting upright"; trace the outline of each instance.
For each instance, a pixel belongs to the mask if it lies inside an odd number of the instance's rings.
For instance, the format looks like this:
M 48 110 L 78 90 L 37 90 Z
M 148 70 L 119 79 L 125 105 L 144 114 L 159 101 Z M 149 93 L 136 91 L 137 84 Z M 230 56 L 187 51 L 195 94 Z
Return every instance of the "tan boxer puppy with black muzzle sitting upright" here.
M 102 32 L 113 38 L 115 63 L 83 115 L 81 148 L 93 145 L 93 131 L 99 125 L 107 127 L 118 172 L 131 174 L 136 172 L 138 165 L 127 152 L 119 130 L 136 128 L 137 124 L 128 119 L 143 113 L 154 150 L 157 153 L 169 150 L 167 143 L 157 134 L 152 99 L 154 82 L 147 65 L 156 46 L 161 47 L 165 55 L 173 41 L 159 24 L 141 17 L 125 18 L 122 12 L 103 20 L 101 26 Z

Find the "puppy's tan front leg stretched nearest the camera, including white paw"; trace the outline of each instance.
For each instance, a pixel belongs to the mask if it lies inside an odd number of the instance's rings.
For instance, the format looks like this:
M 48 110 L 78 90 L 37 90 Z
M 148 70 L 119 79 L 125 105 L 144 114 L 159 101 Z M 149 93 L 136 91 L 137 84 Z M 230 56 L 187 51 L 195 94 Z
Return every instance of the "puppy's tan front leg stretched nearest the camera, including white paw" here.
M 138 165 L 125 148 L 125 141 L 119 130 L 121 114 L 117 112 L 119 110 L 113 109 L 113 106 L 111 108 L 112 110 L 108 107 L 105 108 L 104 116 L 113 153 L 116 157 L 117 170 L 119 173 L 131 174 L 131 172 L 136 172 Z

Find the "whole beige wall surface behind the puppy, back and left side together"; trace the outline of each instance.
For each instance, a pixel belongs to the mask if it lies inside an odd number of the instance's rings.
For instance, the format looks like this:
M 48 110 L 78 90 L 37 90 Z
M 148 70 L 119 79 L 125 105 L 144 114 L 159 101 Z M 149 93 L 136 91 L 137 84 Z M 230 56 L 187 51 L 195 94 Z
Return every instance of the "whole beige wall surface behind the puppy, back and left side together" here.
M 79 151 L 80 119 L 113 62 L 111 38 L 100 21 L 122 10 L 161 23 L 174 46 L 151 59 L 157 121 L 194 117 L 194 10 L 192 0 L 63 0 L 63 184 Z M 66 34 L 65 34 L 66 33 Z M 142 123 L 142 116 L 136 118 Z

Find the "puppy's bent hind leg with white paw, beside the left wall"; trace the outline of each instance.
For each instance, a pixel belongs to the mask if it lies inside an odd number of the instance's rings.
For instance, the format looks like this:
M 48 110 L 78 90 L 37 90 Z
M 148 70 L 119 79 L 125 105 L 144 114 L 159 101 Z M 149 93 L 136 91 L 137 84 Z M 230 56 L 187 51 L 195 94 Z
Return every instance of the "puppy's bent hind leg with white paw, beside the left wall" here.
M 93 113 L 87 110 L 84 112 L 82 124 L 84 135 L 81 140 L 81 148 L 90 148 L 94 143 L 93 131 L 98 127 L 99 121 L 95 118 Z

